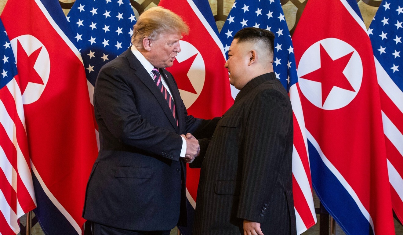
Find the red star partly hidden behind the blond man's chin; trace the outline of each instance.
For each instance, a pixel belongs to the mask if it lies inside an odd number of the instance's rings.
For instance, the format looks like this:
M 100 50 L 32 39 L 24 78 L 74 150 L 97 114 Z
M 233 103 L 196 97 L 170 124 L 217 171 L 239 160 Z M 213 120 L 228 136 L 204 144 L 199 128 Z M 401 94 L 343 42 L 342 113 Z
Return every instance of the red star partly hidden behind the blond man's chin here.
M 189 77 L 187 77 L 187 73 L 189 72 L 189 69 L 192 66 L 196 56 L 197 54 L 194 54 L 181 63 L 179 63 L 178 60 L 174 60 L 172 67 L 167 68 L 167 70 L 174 75 L 178 88 L 193 94 L 197 94 L 197 92 L 190 82 Z

